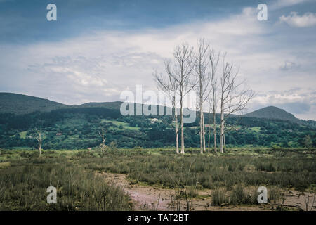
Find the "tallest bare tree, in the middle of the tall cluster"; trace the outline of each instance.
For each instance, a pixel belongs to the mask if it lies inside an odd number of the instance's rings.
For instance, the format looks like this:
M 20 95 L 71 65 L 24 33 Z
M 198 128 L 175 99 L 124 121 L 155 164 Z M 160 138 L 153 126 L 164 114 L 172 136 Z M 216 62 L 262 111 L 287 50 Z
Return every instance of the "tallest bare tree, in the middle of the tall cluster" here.
M 199 126 L 200 126 L 200 153 L 206 151 L 205 146 L 205 124 L 203 103 L 206 101 L 209 92 L 209 44 L 204 39 L 197 41 L 197 53 L 195 54 L 195 75 L 197 76 L 197 94 L 199 96 Z

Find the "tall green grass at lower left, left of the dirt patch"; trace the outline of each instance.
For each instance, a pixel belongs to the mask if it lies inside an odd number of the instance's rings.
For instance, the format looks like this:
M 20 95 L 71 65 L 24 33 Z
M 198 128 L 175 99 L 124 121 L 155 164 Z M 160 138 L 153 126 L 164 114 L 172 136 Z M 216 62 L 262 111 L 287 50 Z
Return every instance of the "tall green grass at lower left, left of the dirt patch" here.
M 69 158 L 82 151 L 4 151 L 0 163 L 0 210 L 131 210 L 120 187 Z M 46 202 L 46 189 L 57 189 L 57 203 Z

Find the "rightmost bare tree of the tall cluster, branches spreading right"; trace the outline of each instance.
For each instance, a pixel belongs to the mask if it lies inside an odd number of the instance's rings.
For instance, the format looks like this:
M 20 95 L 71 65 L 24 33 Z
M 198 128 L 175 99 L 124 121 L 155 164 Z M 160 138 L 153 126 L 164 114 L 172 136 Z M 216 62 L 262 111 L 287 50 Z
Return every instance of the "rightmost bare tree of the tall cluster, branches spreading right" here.
M 237 82 L 239 70 L 223 56 L 223 72 L 220 75 L 220 152 L 223 153 L 224 135 L 232 129 L 225 130 L 225 122 L 233 113 L 240 113 L 254 97 L 254 92 L 242 89 L 245 82 Z

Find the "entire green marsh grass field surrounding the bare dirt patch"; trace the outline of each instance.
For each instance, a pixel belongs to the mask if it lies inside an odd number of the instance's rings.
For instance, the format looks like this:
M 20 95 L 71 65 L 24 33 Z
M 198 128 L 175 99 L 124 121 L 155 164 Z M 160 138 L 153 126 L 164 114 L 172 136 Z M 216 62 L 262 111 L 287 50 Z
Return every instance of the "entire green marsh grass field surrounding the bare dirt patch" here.
M 243 148 L 224 154 L 199 154 L 186 148 L 0 150 L 0 210 L 129 210 L 121 189 L 96 172 L 127 174 L 133 184 L 167 188 L 210 188 L 214 205 L 257 204 L 256 188 L 266 186 L 270 199 L 282 188 L 316 186 L 315 150 Z M 46 188 L 58 186 L 58 205 L 46 203 Z M 194 191 L 194 189 L 192 189 Z M 105 205 L 102 200 L 106 196 Z M 34 203 L 33 203 L 34 202 Z

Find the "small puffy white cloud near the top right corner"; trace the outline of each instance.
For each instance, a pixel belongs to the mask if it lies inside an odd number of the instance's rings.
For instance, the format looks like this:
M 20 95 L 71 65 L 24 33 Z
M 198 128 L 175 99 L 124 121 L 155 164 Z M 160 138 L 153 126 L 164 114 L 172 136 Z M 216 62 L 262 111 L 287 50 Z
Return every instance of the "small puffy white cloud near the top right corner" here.
M 312 27 L 316 25 L 316 13 L 305 13 L 300 16 L 296 12 L 291 12 L 290 15 L 282 15 L 279 21 L 292 27 Z

